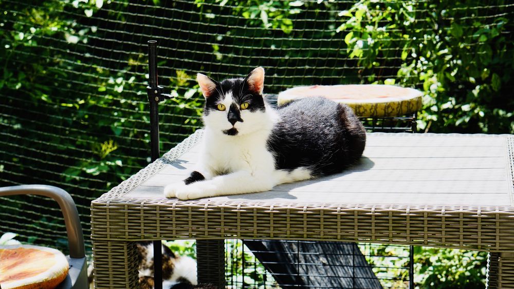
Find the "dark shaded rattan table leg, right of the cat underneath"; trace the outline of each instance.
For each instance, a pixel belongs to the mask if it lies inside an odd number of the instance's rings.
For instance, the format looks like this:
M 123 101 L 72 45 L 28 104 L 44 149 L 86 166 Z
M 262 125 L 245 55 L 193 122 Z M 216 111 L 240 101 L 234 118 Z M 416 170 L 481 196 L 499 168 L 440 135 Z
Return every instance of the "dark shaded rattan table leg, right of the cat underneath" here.
M 225 240 L 196 240 L 198 283 L 225 287 Z

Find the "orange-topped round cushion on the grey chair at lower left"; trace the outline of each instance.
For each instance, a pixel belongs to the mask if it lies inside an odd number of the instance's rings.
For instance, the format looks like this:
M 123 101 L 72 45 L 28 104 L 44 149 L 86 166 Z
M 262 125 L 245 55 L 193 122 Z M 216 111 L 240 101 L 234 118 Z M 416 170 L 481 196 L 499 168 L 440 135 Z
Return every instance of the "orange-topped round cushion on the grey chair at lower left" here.
M 68 275 L 64 254 L 52 248 L 32 245 L 0 246 L 2 289 L 55 288 Z

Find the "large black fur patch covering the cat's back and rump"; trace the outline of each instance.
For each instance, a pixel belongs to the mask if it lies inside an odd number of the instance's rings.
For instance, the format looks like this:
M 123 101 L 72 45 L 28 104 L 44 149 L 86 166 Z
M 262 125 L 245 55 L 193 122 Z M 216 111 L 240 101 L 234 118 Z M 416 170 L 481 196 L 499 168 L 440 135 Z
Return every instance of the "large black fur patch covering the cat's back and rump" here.
M 360 158 L 365 129 L 346 105 L 305 98 L 279 107 L 281 116 L 268 139 L 276 168 L 307 167 L 314 177 L 335 174 Z

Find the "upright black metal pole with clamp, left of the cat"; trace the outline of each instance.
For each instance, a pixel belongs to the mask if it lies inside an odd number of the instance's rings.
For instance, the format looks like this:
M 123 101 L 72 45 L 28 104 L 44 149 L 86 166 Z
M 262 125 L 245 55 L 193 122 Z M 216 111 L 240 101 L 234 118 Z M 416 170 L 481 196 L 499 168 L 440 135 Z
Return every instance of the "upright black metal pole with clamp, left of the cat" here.
M 148 101 L 150 102 L 150 147 L 152 162 L 159 158 L 159 84 L 157 81 L 157 41 L 148 41 Z M 154 241 L 154 288 L 162 289 L 162 242 Z

